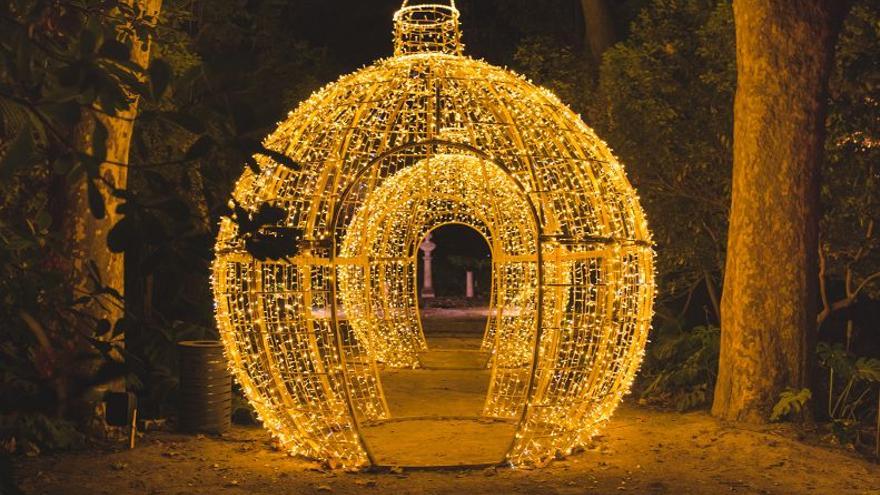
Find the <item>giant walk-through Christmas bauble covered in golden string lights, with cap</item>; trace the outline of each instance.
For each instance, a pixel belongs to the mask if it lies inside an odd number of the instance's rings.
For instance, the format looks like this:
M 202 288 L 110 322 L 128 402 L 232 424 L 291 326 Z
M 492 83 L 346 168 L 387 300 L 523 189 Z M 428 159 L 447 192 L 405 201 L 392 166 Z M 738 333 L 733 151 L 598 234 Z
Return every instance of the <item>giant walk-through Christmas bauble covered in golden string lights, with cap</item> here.
M 303 232 L 294 257 L 259 261 L 224 219 L 213 265 L 235 377 L 291 453 L 374 463 L 361 431 L 389 418 L 378 370 L 419 366 L 418 246 L 447 223 L 491 246 L 483 414 L 516 424 L 507 462 L 587 442 L 641 362 L 653 251 L 623 167 L 550 91 L 463 56 L 458 17 L 454 2 L 404 2 L 393 57 L 265 140 L 298 166 L 258 155 L 235 187 Z

